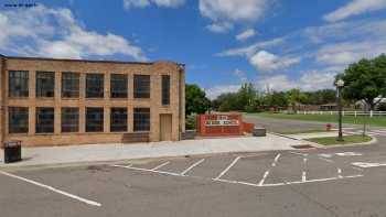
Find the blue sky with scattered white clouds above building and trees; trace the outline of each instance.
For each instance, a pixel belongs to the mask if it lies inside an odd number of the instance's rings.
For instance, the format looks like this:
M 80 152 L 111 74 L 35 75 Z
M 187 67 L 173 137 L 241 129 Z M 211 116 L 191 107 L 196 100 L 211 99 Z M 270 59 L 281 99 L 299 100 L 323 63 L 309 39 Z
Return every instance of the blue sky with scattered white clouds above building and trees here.
M 0 4 L 0 53 L 186 64 L 211 98 L 332 87 L 349 64 L 386 52 L 386 0 L 62 0 Z

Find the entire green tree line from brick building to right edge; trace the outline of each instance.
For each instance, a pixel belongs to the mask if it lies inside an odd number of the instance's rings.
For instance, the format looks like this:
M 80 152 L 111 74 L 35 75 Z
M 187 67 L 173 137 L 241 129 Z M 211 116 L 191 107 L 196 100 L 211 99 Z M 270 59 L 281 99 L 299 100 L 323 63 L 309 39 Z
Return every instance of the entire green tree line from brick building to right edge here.
M 343 99 L 353 105 L 363 101 L 371 110 L 380 105 L 386 97 L 386 55 L 375 58 L 363 58 L 353 63 L 337 74 L 337 79 L 344 80 Z M 225 93 L 210 100 L 197 85 L 186 85 L 186 115 L 204 113 L 208 110 L 216 111 L 246 111 L 258 112 L 269 108 L 288 108 L 302 105 L 323 105 L 336 101 L 335 89 L 322 89 L 315 91 L 301 91 L 290 89 L 287 91 L 259 91 L 253 84 L 246 83 L 236 93 Z

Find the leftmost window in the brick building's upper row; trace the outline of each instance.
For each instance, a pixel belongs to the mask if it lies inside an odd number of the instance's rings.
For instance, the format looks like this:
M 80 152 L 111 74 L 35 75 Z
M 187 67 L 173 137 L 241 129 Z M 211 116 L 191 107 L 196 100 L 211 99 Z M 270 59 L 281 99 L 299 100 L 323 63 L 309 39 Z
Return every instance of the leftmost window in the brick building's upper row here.
M 29 72 L 10 70 L 9 72 L 9 97 L 28 97 L 29 96 Z

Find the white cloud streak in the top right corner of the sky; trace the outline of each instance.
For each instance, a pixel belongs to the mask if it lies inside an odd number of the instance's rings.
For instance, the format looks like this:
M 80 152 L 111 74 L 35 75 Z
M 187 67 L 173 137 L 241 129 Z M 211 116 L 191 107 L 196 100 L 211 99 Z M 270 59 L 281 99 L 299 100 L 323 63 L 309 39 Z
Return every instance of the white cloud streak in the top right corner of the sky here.
M 352 0 L 347 4 L 323 17 L 329 22 L 386 9 L 386 0 Z

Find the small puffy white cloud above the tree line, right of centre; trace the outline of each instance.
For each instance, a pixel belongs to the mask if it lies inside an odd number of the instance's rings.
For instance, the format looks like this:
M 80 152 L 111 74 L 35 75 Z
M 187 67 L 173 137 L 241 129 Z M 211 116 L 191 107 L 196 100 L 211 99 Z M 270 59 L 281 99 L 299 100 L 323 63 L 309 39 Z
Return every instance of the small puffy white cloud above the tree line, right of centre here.
M 249 57 L 249 63 L 264 72 L 287 68 L 300 62 L 300 57 L 279 57 L 266 51 L 259 51 Z

